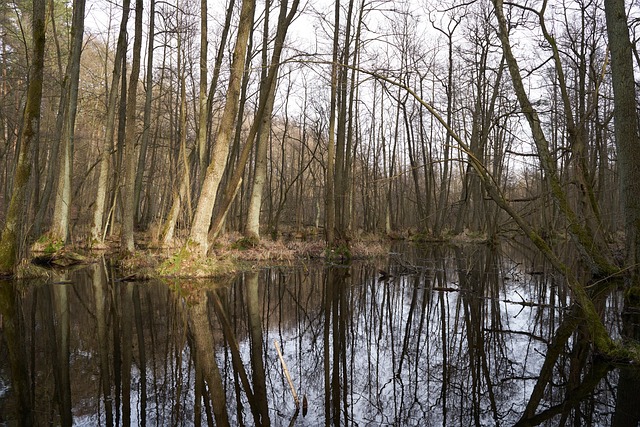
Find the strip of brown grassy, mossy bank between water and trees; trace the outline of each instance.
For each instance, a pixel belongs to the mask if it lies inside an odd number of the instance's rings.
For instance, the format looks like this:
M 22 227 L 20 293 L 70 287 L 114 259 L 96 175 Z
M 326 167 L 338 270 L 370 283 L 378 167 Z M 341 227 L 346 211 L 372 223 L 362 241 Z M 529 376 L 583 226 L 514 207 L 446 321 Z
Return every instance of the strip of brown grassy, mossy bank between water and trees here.
M 136 236 L 138 249 L 127 255 L 120 253 L 117 240 L 109 240 L 99 247 L 87 245 L 59 245 L 40 241 L 31 248 L 31 257 L 17 269 L 19 278 L 46 277 L 52 270 L 64 270 L 103 259 L 114 261 L 122 275 L 129 280 L 150 278 L 205 278 L 219 277 L 275 265 L 293 265 L 299 262 L 320 261 L 342 263 L 351 259 L 373 259 L 389 254 L 394 243 L 413 241 L 416 236 L 361 234 L 349 242 L 348 251 L 327 252 L 321 235 L 290 233 L 276 240 L 263 238 L 252 242 L 240 234 L 219 237 L 211 246 L 207 257 L 195 255 L 184 241 L 171 247 L 161 246 L 148 233 Z M 423 241 L 423 239 L 419 239 Z M 427 242 L 468 244 L 484 243 L 486 238 L 463 233 L 444 240 Z

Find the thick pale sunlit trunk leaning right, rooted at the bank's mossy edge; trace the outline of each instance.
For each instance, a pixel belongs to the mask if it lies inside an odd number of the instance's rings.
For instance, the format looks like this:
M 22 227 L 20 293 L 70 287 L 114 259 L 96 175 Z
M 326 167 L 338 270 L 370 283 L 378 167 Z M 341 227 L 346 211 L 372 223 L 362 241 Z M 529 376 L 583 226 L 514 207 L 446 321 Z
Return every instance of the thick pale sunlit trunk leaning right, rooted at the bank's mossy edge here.
M 227 99 L 220 120 L 216 145 L 213 149 L 211 164 L 202 184 L 202 192 L 196 212 L 191 225 L 189 239 L 195 244 L 194 250 L 201 255 L 206 255 L 208 249 L 208 233 L 213 214 L 213 205 L 218 194 L 218 186 L 224 173 L 224 168 L 229 154 L 229 143 L 233 134 L 236 114 L 238 112 L 238 100 L 240 98 L 240 85 L 244 75 L 244 64 L 246 59 L 249 33 L 253 27 L 253 12 L 255 10 L 255 0 L 243 0 L 240 12 L 240 24 L 238 26 L 238 36 L 233 51 L 231 62 L 231 75 L 229 76 L 229 87 Z

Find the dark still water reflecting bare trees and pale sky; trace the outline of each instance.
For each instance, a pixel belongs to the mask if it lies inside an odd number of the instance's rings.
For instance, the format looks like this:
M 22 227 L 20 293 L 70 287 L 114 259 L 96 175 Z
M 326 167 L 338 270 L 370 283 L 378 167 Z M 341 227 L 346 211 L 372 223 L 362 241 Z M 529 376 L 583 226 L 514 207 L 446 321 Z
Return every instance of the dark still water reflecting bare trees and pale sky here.
M 0 424 L 607 426 L 640 406 L 637 371 L 597 362 L 561 277 L 526 254 L 55 282 L 0 284 Z M 621 296 L 599 308 L 619 335 Z

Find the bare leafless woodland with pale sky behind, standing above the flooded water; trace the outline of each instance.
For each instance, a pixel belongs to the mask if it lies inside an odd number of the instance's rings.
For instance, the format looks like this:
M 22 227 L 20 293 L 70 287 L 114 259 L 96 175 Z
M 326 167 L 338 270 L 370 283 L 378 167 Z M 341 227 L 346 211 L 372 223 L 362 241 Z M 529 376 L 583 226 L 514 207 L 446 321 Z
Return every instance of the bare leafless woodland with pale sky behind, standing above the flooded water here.
M 527 238 L 595 348 L 640 301 L 637 5 L 10 1 L 0 5 L 0 271 L 34 243 L 207 256 L 370 233 Z M 139 243 L 139 242 L 138 242 Z M 333 251 L 333 252 L 331 252 Z

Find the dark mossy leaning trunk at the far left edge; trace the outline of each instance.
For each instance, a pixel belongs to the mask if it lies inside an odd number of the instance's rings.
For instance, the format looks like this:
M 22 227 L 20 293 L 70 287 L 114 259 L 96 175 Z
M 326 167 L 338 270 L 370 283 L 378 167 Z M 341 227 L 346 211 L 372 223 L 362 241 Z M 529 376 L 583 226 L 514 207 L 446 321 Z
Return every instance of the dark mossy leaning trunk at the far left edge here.
M 13 192 L 2 230 L 2 237 L 0 238 L 0 274 L 11 274 L 13 272 L 18 261 L 18 247 L 22 240 L 20 230 L 24 222 L 24 201 L 29 184 L 29 175 L 31 174 L 29 153 L 31 144 L 38 140 L 40 132 L 45 45 L 44 18 L 44 0 L 33 0 L 33 53 L 29 73 L 29 86 L 27 88 L 27 101 L 22 116 L 22 133 L 20 135 L 22 146 L 18 153 Z

